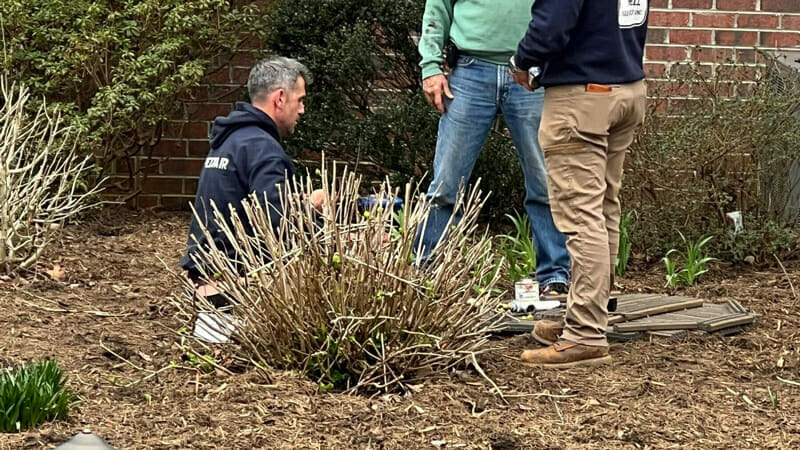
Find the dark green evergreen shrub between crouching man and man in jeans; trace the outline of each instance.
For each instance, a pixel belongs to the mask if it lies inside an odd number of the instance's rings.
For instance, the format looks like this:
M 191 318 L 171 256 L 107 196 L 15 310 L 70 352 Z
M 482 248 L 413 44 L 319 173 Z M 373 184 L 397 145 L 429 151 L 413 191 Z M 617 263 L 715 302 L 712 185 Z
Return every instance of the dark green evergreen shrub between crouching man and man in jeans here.
M 432 159 L 436 114 L 421 94 L 412 34 L 424 1 L 279 0 L 270 48 L 314 75 L 289 150 L 371 161 L 403 181 Z

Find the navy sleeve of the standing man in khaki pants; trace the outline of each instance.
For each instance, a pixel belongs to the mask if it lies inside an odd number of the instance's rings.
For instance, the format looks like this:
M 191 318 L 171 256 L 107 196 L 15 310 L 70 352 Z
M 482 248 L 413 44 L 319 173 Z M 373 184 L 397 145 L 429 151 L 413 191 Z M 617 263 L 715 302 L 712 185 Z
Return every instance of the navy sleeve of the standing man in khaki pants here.
M 536 0 L 531 7 L 531 23 L 517 47 L 514 62 L 528 70 L 541 67 L 569 43 L 578 23 L 584 0 Z

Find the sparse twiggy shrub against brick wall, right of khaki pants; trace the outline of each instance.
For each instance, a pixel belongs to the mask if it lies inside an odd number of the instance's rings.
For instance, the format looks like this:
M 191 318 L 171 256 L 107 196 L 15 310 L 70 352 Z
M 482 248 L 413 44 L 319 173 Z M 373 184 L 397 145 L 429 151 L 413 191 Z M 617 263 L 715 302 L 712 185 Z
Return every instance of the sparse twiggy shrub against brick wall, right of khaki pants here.
M 796 256 L 797 76 L 772 63 L 755 82 L 752 67 L 720 65 L 711 76 L 692 68 L 650 93 L 631 147 L 622 197 L 639 218 L 632 242 L 648 256 L 664 254 L 680 229 L 692 238 L 722 236 L 710 245 L 726 259 Z M 745 232 L 733 234 L 726 219 L 733 211 L 742 212 Z

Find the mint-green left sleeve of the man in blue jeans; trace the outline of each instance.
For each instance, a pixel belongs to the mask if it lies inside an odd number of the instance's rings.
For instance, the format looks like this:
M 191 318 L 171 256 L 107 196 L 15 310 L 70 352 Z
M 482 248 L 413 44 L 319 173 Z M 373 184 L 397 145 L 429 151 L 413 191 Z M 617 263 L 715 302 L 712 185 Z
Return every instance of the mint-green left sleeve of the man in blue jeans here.
M 453 22 L 454 0 L 427 0 L 422 15 L 422 34 L 419 38 L 419 54 L 422 61 L 422 79 L 442 73 L 444 62 L 442 49 L 450 38 L 450 24 Z

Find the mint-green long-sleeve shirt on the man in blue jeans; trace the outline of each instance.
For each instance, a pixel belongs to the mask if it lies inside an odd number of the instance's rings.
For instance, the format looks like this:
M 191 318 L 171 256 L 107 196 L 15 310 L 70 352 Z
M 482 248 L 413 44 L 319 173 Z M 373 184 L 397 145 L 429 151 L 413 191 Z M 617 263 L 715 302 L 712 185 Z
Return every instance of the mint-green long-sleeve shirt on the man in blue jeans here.
M 531 20 L 533 0 L 427 0 L 419 54 L 422 78 L 442 73 L 448 39 L 475 58 L 506 64 Z

